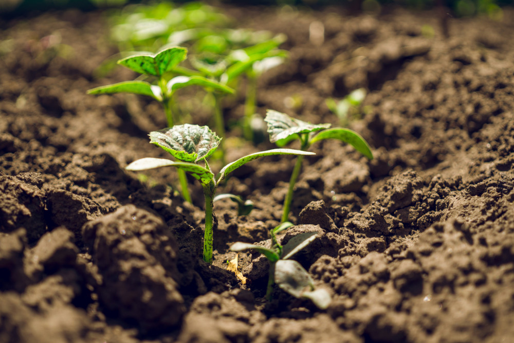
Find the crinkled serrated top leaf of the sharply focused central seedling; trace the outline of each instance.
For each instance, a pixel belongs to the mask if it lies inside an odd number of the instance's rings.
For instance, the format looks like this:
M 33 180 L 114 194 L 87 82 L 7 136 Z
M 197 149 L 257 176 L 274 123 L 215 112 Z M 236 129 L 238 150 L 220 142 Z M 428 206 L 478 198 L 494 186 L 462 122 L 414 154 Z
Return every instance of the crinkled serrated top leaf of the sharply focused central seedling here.
M 208 158 L 222 140 L 208 127 L 191 124 L 152 131 L 149 136 L 150 143 L 166 150 L 176 159 L 186 162 L 198 162 Z

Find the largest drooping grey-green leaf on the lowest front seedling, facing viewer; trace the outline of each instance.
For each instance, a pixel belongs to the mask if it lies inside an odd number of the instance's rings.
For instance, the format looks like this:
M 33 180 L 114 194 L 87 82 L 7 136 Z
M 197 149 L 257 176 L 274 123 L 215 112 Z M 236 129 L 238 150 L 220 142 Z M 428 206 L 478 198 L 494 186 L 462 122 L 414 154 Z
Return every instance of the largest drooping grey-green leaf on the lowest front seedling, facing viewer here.
M 301 298 L 309 287 L 314 288 L 313 279 L 300 263 L 293 260 L 279 260 L 275 264 L 275 283 L 290 295 Z

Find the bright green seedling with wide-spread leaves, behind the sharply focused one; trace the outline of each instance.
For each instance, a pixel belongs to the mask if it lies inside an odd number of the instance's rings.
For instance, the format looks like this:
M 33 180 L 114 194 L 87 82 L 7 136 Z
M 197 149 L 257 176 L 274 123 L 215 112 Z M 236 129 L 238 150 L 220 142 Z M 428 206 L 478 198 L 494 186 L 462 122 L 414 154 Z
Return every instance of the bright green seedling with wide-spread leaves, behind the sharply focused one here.
M 178 89 L 198 85 L 209 92 L 220 91 L 226 93 L 233 93 L 233 89 L 220 84 L 216 81 L 207 79 L 203 76 L 177 76 L 169 79 L 169 72 L 176 67 L 180 62 L 186 59 L 187 49 L 183 47 L 173 46 L 160 50 L 152 54 L 147 52 L 137 53 L 136 55 L 128 56 L 118 61 L 127 68 L 130 68 L 136 73 L 143 74 L 147 77 L 157 79 L 157 84 L 154 85 L 146 81 L 124 81 L 106 86 L 96 87 L 89 89 L 88 94 L 113 94 L 113 93 L 134 93 L 146 95 L 159 101 L 166 113 L 168 126 L 174 125 L 174 116 L 172 113 L 173 96 Z M 179 170 L 178 173 L 182 195 L 186 201 L 191 202 L 191 195 L 187 187 L 186 174 Z

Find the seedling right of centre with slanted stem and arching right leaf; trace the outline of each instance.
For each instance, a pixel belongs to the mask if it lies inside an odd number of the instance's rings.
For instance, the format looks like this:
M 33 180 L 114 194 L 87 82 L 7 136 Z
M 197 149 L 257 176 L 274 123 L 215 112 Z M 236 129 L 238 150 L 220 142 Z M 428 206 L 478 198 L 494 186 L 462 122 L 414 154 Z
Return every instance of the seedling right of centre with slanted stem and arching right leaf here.
M 364 156 L 369 159 L 373 159 L 373 154 L 371 153 L 368 143 L 366 143 L 364 138 L 362 138 L 358 133 L 350 129 L 329 129 L 331 124 L 311 124 L 299 119 L 291 118 L 284 113 L 273 110 L 267 111 L 266 118 L 264 120 L 268 123 L 269 140 L 272 143 L 276 143 L 278 147 L 284 147 L 290 141 L 299 139 L 301 146 L 300 150 L 306 151 L 314 143 L 323 139 L 332 138 L 339 139 L 350 144 Z M 302 161 L 303 156 L 298 156 L 291 178 L 289 179 L 289 188 L 282 212 L 282 222 L 286 222 L 289 217 L 293 190 L 295 188 L 296 180 L 300 175 Z

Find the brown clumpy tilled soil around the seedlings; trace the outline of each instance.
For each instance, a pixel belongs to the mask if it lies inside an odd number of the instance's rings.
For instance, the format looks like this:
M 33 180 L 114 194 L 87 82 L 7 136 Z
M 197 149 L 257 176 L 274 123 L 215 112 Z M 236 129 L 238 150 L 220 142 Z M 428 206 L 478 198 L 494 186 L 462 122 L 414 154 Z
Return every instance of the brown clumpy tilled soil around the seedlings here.
M 255 209 L 215 204 L 205 264 L 195 180 L 190 205 L 173 170 L 124 170 L 167 157 L 146 136 L 166 126 L 159 105 L 86 95 L 135 75 L 97 77 L 116 53 L 102 13 L 50 12 L 0 23 L 0 342 L 512 341 L 514 11 L 502 23 L 450 19 L 449 38 L 430 12 L 227 12 L 288 36 L 289 61 L 260 80 L 261 114 L 337 125 L 324 100 L 369 90 L 350 127 L 375 158 L 320 142 L 292 204 L 292 232 L 320 232 L 298 261 L 331 305 L 279 289 L 265 301 L 259 254 L 240 254 L 246 284 L 226 268 L 233 242 L 264 241 L 279 223 L 294 160 L 234 173 L 220 191 Z M 324 42 L 309 41 L 313 21 Z M 225 114 L 241 117 L 242 104 Z

